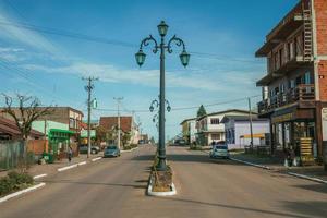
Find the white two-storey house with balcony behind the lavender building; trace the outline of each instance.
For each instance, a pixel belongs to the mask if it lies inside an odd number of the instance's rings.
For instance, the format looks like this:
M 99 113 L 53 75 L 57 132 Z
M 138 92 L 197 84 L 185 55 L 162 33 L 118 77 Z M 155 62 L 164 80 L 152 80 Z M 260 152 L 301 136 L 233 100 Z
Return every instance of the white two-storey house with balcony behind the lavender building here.
M 249 116 L 249 111 L 231 109 L 213 112 L 196 119 L 196 142 L 199 145 L 210 145 L 213 142 L 225 141 L 225 116 Z

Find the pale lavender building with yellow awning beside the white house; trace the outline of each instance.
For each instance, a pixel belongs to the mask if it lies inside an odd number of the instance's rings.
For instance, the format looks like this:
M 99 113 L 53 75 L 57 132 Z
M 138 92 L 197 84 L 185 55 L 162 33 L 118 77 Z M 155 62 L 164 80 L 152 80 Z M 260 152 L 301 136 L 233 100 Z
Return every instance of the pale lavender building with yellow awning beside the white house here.
M 225 124 L 225 141 L 229 149 L 242 149 L 251 145 L 251 128 L 249 116 L 225 116 L 221 120 Z M 252 116 L 253 146 L 265 146 L 269 138 L 270 123 L 268 119 Z M 269 146 L 269 144 L 268 144 Z

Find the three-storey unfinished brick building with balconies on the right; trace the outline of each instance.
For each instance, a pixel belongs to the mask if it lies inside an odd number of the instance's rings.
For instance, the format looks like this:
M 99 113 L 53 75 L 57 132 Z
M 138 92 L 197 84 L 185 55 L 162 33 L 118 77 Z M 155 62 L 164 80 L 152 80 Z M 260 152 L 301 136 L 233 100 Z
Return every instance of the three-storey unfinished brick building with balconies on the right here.
M 301 0 L 271 32 L 256 57 L 267 58 L 261 118 L 270 119 L 271 150 L 292 147 L 302 161 L 323 159 L 327 145 L 327 3 Z

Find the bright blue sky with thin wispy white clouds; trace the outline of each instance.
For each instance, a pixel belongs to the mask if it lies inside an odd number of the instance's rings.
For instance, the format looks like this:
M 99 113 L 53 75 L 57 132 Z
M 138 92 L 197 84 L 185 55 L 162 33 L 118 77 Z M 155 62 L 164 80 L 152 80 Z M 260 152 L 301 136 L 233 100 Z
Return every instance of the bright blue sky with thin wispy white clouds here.
M 0 92 L 37 96 L 45 105 L 71 106 L 86 114 L 85 82 L 96 76 L 98 108 L 93 119 L 116 114 L 113 97 L 123 96 L 124 114 L 136 110 L 143 132 L 157 136 L 147 110 L 158 96 L 159 56 L 147 50 L 140 69 L 134 53 L 141 40 L 165 20 L 168 37 L 177 34 L 192 53 L 190 65 L 179 62 L 180 48 L 167 56 L 167 99 L 172 108 L 226 102 L 208 112 L 247 107 L 246 96 L 261 95 L 255 81 L 266 72 L 254 58 L 266 34 L 298 0 L 0 0 Z M 35 32 L 49 28 L 61 35 Z M 106 38 L 112 44 L 64 37 L 78 33 Z M 261 98 L 252 98 L 255 105 Z M 2 104 L 2 101 L 0 101 Z M 196 109 L 167 114 L 167 135 L 180 133 L 179 123 Z

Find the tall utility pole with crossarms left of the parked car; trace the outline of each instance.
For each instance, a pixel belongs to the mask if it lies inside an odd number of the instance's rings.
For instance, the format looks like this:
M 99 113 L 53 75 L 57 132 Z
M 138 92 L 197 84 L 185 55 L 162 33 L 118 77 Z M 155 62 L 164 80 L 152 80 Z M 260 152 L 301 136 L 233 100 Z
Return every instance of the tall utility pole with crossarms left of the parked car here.
M 94 89 L 94 81 L 98 81 L 99 78 L 95 78 L 92 76 L 82 77 L 83 81 L 87 81 L 87 85 L 85 86 L 85 90 L 87 92 L 87 158 L 90 156 L 90 104 L 92 104 L 92 90 Z

